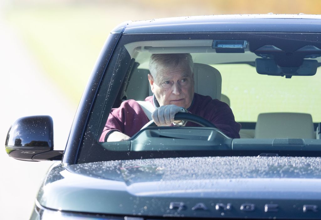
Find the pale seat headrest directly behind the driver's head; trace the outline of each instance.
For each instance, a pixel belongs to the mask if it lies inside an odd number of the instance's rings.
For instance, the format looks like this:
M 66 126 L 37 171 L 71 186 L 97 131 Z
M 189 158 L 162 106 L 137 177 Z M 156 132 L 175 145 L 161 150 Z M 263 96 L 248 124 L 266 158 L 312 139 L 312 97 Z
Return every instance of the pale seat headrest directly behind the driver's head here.
M 217 69 L 206 64 L 194 63 L 193 73 L 196 93 L 221 100 L 222 77 Z M 153 95 L 150 86 L 149 95 Z

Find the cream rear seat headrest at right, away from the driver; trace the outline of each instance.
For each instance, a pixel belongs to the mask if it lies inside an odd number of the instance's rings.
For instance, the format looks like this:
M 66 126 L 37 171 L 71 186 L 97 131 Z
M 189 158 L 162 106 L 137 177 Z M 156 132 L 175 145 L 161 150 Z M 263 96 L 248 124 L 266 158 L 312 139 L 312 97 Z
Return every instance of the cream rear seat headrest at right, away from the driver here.
M 312 116 L 304 113 L 261 113 L 255 126 L 255 138 L 315 139 Z

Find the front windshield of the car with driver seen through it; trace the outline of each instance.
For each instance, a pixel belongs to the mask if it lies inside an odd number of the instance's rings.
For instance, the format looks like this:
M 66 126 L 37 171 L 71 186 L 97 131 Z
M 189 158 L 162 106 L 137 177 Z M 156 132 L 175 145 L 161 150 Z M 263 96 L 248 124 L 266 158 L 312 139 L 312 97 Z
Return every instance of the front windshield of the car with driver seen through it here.
M 321 144 L 318 37 L 123 35 L 101 82 L 78 162 L 315 153 Z M 168 123 L 166 115 L 176 109 L 182 114 Z M 166 126 L 143 128 L 154 111 L 160 118 L 155 123 L 165 118 Z M 116 134 L 123 136 L 112 139 Z

